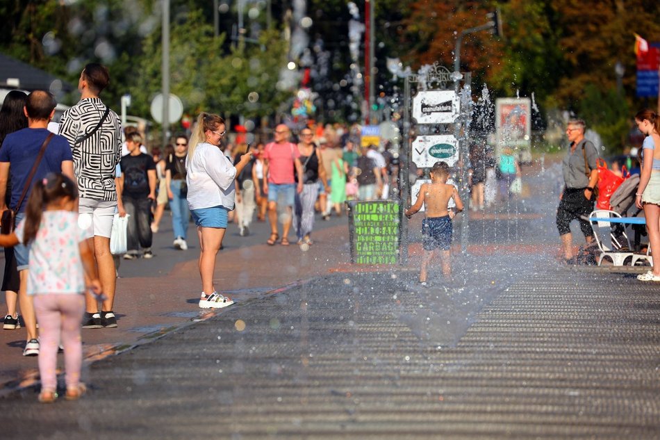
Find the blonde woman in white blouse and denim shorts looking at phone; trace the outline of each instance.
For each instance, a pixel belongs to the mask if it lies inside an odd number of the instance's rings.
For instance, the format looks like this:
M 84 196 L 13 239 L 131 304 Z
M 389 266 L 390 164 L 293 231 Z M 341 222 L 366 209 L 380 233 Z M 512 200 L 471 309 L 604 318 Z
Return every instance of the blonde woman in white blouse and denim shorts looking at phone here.
M 225 124 L 222 117 L 201 113 L 190 138 L 185 162 L 188 184 L 188 206 L 199 237 L 199 275 L 201 275 L 202 309 L 219 309 L 233 304 L 213 286 L 215 257 L 222 245 L 227 227 L 227 213 L 233 210 L 236 185 L 234 179 L 250 161 L 251 153 L 240 157 L 236 167 L 220 150 Z

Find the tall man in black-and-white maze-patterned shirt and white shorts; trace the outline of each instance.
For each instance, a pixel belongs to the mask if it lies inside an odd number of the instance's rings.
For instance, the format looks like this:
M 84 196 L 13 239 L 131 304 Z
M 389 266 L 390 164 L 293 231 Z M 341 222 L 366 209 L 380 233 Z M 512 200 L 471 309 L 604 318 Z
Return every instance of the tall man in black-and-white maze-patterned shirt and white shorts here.
M 115 170 L 121 159 L 122 127 L 117 113 L 99 98 L 109 82 L 106 67 L 97 63 L 85 65 L 78 82 L 81 100 L 65 111 L 60 120 L 60 134 L 69 140 L 78 179 L 79 224 L 93 231 L 94 237 L 90 239 L 107 297 L 99 313 L 97 298 L 85 293 L 84 328 L 117 327 L 113 313 L 116 272 L 110 254 L 110 231 L 117 209 Z

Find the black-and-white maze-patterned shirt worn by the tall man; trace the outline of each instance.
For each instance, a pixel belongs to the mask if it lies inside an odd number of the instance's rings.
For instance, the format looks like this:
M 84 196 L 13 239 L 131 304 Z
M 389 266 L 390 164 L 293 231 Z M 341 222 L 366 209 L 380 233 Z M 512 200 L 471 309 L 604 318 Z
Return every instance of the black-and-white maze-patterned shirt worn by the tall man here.
M 81 99 L 62 115 L 60 134 L 71 145 L 80 197 L 114 202 L 115 170 L 122 158 L 122 125 L 117 113 L 110 110 L 101 127 L 81 141 L 97 127 L 105 111 L 100 98 Z

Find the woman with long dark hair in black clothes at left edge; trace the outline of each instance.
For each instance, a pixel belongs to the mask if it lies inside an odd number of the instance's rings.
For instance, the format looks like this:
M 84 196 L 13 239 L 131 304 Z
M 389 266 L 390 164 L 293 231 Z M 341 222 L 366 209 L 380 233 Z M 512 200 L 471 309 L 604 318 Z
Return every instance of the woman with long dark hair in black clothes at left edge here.
M 27 95 L 19 90 L 12 90 L 7 94 L 0 108 L 0 145 L 4 142 L 9 133 L 19 131 L 28 126 L 28 118 L 23 112 L 23 107 L 27 100 Z M 11 201 L 11 183 L 7 181 L 6 206 L 10 206 Z M 5 247 L 5 270 L 0 290 L 5 292 L 5 301 L 7 302 L 7 314 L 3 320 L 2 328 L 13 330 L 20 327 L 18 322 L 18 313 L 16 311 L 16 302 L 18 298 L 18 289 L 20 286 L 20 277 L 16 268 L 16 258 L 13 247 Z

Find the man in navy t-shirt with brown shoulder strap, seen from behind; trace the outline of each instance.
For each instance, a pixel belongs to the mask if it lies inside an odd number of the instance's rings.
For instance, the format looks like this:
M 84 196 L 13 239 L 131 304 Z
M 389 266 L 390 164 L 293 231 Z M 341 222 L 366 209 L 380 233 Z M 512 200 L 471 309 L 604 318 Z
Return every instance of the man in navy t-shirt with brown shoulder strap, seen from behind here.
M 55 114 L 56 104 L 53 95 L 44 90 L 35 90 L 28 95 L 24 107 L 25 115 L 28 117 L 28 128 L 8 134 L 0 148 L 0 212 L 7 209 L 5 194 L 7 181 L 11 179 L 10 208 L 17 212 L 17 223 L 24 218 L 25 207 L 35 181 L 43 179 L 49 172 L 61 172 L 70 179 L 75 179 L 69 142 L 63 136 L 53 135 L 32 181 L 27 181 L 41 146 L 50 134 L 46 127 Z M 28 192 L 21 206 L 17 206 L 26 185 Z M 29 245 L 16 245 L 14 252 L 21 279 L 18 292 L 19 305 L 27 330 L 27 343 L 23 355 L 36 356 L 39 354 L 37 320 L 32 298 L 27 295 Z

